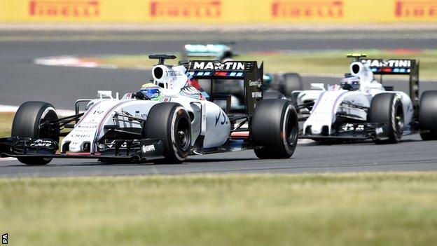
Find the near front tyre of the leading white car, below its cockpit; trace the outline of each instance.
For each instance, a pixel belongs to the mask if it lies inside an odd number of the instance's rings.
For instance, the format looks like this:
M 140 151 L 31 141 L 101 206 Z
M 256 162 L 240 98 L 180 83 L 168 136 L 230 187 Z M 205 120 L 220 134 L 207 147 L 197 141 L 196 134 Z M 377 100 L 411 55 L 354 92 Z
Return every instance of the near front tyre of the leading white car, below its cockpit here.
M 143 132 L 146 138 L 162 139 L 165 144 L 163 162 L 182 163 L 191 149 L 191 121 L 181 104 L 155 104 L 148 112 Z M 156 161 L 156 163 L 162 163 Z

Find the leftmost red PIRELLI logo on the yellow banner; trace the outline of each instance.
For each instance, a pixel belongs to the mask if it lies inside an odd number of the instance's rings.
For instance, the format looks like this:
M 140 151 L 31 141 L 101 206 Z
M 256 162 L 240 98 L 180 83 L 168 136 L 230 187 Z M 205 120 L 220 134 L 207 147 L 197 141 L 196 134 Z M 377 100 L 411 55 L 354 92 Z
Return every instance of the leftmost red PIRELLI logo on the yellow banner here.
M 29 1 L 29 15 L 92 18 L 99 16 L 99 1 L 32 0 Z

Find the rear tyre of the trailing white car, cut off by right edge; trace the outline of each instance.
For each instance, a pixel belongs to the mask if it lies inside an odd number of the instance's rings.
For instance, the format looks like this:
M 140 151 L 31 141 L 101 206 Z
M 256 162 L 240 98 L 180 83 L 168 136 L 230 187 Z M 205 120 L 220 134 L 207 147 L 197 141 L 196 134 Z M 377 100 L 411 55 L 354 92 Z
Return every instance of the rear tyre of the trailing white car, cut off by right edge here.
M 420 97 L 419 127 L 422 140 L 437 140 L 437 90 L 425 91 Z

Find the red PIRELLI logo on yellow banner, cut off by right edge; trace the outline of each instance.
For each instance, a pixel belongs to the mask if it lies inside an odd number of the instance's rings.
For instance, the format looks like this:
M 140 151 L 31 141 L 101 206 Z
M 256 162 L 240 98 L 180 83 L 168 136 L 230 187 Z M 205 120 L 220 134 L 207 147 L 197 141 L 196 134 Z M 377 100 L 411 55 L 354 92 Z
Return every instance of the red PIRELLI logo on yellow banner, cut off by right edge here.
M 396 1 L 396 18 L 437 18 L 437 1 Z

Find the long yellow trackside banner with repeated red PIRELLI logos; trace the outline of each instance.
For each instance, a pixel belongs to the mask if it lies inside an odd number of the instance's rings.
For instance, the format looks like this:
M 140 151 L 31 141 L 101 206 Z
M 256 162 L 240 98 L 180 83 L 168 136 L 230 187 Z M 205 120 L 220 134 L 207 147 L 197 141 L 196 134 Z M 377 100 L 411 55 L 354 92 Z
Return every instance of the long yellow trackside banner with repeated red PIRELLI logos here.
M 0 22 L 437 22 L 436 0 L 0 0 Z

